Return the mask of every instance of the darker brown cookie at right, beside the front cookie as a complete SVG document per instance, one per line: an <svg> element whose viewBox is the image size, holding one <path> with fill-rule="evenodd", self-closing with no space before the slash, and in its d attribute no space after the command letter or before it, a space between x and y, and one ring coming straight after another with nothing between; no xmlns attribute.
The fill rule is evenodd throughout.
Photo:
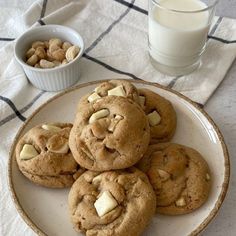
<svg viewBox="0 0 236 236"><path fill-rule="evenodd" d="M173 143L150 145L137 167L149 177L159 213L186 214L208 198L210 170L201 154L192 148Z"/></svg>

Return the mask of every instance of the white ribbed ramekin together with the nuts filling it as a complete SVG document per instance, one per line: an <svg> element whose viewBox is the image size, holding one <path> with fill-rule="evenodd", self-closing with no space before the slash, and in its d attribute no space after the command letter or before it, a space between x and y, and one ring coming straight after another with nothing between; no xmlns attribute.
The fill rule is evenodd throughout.
<svg viewBox="0 0 236 236"><path fill-rule="evenodd" d="M59 91L75 84L84 51L82 37L61 25L28 30L15 44L15 57L29 81L45 91Z"/></svg>

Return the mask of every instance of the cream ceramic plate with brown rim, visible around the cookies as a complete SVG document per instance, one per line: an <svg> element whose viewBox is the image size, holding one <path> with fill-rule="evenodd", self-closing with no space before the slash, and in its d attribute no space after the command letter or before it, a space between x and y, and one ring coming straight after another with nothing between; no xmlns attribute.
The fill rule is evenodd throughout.
<svg viewBox="0 0 236 236"><path fill-rule="evenodd" d="M101 81L72 88L49 100L25 122L12 145L9 184L13 201L26 223L39 235L78 236L68 215L69 189L39 187L26 179L16 164L15 145L20 136L39 123L73 122L79 98L92 91L99 83ZM172 102L178 118L176 134L172 141L197 149L209 164L213 182L210 196L200 209L183 216L155 215L143 235L196 235L216 215L227 191L229 158L223 137L211 118L194 102L159 85L135 81L133 83L138 88L151 89Z"/></svg>

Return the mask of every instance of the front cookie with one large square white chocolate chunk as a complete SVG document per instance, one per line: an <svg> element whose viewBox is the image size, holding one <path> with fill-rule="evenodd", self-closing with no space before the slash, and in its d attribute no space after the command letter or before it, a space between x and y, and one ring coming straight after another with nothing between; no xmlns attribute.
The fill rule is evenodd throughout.
<svg viewBox="0 0 236 236"><path fill-rule="evenodd" d="M156 197L147 176L132 167L86 171L69 193L74 228L86 235L137 236L155 213Z"/></svg>

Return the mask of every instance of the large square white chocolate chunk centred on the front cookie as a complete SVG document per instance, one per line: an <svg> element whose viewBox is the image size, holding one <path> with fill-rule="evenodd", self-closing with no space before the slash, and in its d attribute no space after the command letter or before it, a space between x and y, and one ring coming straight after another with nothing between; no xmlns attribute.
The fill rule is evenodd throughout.
<svg viewBox="0 0 236 236"><path fill-rule="evenodd" d="M94 203L94 207L100 217L112 211L117 205L117 201L109 191L104 191Z"/></svg>

